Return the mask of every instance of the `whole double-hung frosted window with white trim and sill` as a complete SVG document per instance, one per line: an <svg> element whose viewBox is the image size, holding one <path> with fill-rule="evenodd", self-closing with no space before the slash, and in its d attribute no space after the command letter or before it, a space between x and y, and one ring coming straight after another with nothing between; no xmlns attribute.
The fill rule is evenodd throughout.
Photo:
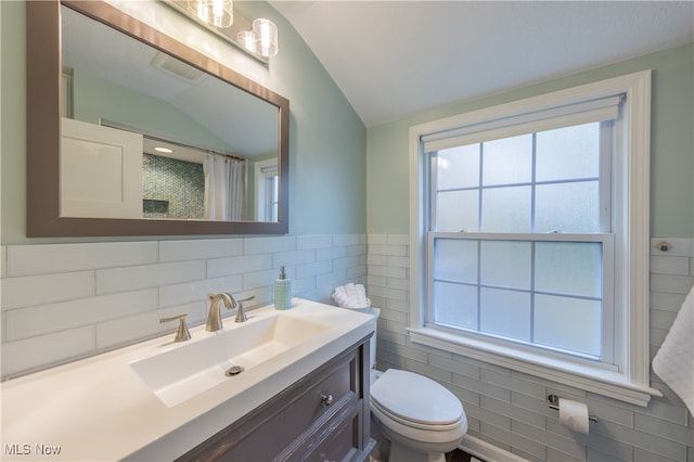
<svg viewBox="0 0 694 462"><path fill-rule="evenodd" d="M411 128L413 342L645 406L650 73Z"/></svg>

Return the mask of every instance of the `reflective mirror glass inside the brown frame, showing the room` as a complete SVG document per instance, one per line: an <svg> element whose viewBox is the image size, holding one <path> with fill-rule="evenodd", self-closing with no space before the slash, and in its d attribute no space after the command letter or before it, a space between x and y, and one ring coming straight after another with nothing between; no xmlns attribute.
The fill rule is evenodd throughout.
<svg viewBox="0 0 694 462"><path fill-rule="evenodd" d="M61 216L278 221L277 106L61 10Z"/></svg>

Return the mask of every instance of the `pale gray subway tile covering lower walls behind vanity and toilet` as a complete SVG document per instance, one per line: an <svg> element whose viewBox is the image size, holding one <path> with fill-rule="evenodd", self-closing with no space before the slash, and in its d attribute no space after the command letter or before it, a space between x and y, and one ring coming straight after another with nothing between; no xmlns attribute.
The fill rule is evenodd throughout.
<svg viewBox="0 0 694 462"><path fill-rule="evenodd" d="M668 252L657 244L666 241ZM694 240L654 239L651 258L652 356L694 282ZM334 286L368 283L382 308L380 369L430 376L464 403L470 435L527 460L694 462L694 418L657 376L664 398L647 408L471 360L407 339L409 236L338 234L191 241L0 246L4 378L160 335L158 319L189 313L204 322L209 292L272 301L284 265L294 294L332 303ZM368 277L367 277L368 274ZM545 396L586 400L599 422L590 436L558 424Z"/></svg>

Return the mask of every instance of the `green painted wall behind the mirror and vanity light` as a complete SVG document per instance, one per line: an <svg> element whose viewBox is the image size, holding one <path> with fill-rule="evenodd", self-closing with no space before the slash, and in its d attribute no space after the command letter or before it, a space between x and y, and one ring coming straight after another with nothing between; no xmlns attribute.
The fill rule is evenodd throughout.
<svg viewBox="0 0 694 462"><path fill-rule="evenodd" d="M130 4L139 9L166 9L149 2ZM275 22L280 30L280 53L264 66L211 36L209 46L229 57L230 67L290 100L290 233L364 233L367 130L363 124L284 17L265 2L240 2L239 8L242 7L247 17L264 16ZM26 238L25 8L23 1L0 1L0 242L114 241Z"/></svg>

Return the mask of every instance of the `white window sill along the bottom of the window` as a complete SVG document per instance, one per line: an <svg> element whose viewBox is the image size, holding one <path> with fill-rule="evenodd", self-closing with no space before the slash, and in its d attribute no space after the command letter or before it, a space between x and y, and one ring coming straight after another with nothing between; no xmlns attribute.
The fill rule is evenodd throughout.
<svg viewBox="0 0 694 462"><path fill-rule="evenodd" d="M451 351L641 407L648 406L652 396L663 396L658 389L632 383L620 372L589 368L505 346L489 345L434 328L408 329L408 335L415 344Z"/></svg>

